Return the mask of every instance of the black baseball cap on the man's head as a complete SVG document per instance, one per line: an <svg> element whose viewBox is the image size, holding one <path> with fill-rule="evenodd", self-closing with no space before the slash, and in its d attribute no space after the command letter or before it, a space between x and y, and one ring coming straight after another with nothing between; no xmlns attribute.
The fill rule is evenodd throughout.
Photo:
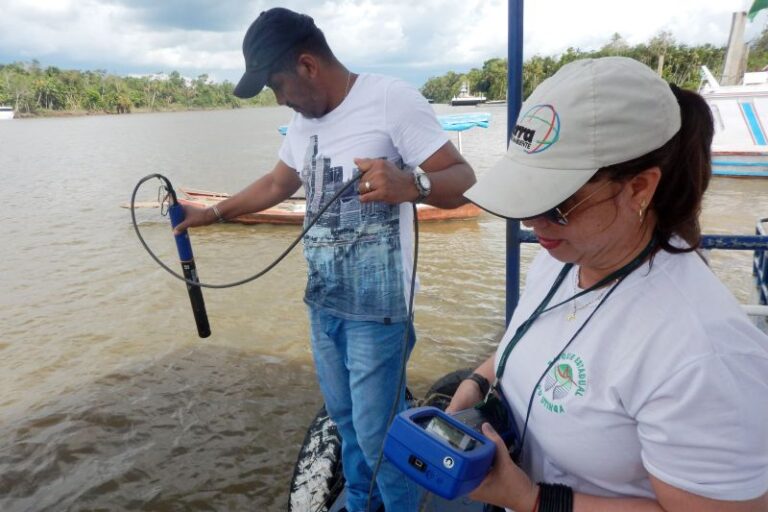
<svg viewBox="0 0 768 512"><path fill-rule="evenodd" d="M252 98L267 83L272 66L294 44L317 31L306 14L275 7L263 11L243 38L245 74L235 86L235 96Z"/></svg>

